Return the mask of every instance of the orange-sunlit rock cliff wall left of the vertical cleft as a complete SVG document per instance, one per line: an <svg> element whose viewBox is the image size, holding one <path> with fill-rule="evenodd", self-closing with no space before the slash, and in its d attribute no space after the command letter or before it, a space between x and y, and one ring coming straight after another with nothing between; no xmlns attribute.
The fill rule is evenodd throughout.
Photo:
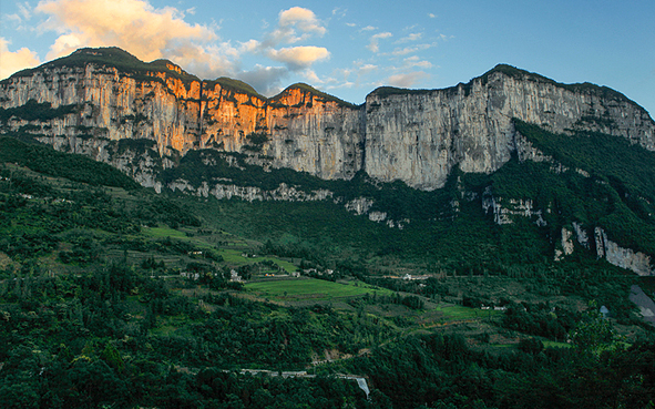
<svg viewBox="0 0 655 409"><path fill-rule="evenodd" d="M161 155L194 149L243 152L262 156L267 165L328 180L350 178L361 167L360 109L299 88L268 101L216 82L184 83L161 72L133 78L89 64L44 69L0 84L0 106L29 100L53 109L79 105L75 114L39 124L38 133L51 136L48 142L60 150L79 152L75 137L91 132L111 141L153 140ZM8 127L27 124L14 120Z"/></svg>

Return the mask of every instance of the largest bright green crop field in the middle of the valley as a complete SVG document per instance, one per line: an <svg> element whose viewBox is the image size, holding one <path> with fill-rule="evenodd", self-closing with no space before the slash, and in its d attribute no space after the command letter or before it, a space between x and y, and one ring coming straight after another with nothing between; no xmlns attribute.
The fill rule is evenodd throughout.
<svg viewBox="0 0 655 409"><path fill-rule="evenodd" d="M339 297L357 297L365 294L392 295L391 290L364 283L332 283L317 278L285 279L246 284L248 292L278 300L328 300Z"/></svg>

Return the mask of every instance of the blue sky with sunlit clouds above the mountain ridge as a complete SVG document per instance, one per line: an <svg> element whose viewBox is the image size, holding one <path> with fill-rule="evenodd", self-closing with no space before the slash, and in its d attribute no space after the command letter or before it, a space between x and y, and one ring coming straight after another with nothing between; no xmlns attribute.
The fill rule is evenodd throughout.
<svg viewBox="0 0 655 409"><path fill-rule="evenodd" d="M2 0L0 76L80 47L167 58L265 95L295 82L354 103L498 63L589 81L655 113L655 1Z"/></svg>

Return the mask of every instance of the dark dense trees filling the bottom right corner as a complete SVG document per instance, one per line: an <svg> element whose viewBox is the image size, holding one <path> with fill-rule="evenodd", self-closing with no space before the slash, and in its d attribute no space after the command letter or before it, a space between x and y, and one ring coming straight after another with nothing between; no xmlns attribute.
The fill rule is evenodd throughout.
<svg viewBox="0 0 655 409"><path fill-rule="evenodd" d="M524 345L489 355L458 336L410 337L351 365L402 408L646 408L653 400L653 342L600 355Z"/></svg>

